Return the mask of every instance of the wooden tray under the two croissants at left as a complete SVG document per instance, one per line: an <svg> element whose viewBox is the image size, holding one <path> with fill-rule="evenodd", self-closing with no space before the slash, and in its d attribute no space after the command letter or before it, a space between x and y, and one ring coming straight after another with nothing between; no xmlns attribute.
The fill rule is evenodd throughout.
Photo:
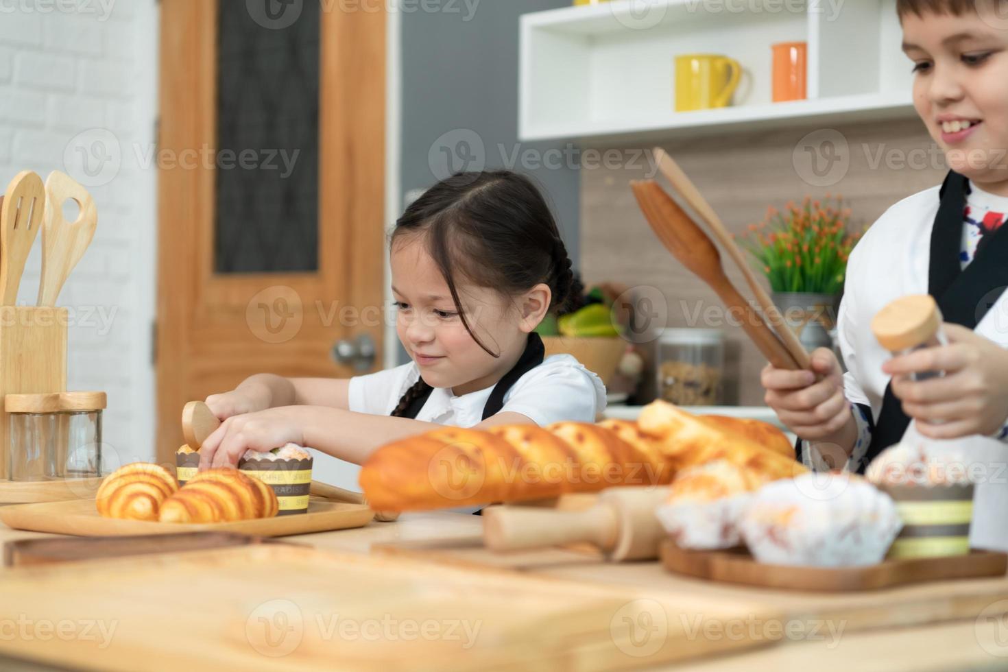
<svg viewBox="0 0 1008 672"><path fill-rule="evenodd" d="M259 537L282 537L291 534L326 532L363 527L374 518L364 504L346 504L312 499L305 514L257 518L234 523L181 525L103 518L94 500L46 502L0 507L0 521L15 530L73 534L81 537L139 534L178 534L180 532L238 532Z"/></svg>

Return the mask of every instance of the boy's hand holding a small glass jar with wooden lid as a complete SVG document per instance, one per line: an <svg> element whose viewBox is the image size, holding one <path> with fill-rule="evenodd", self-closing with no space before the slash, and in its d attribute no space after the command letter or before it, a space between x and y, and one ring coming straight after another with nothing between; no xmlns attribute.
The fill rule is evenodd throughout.
<svg viewBox="0 0 1008 672"><path fill-rule="evenodd" d="M948 346L925 348L882 365L903 412L929 438L990 435L1008 418L1008 351L961 324L942 325ZM909 374L944 371L941 378Z"/></svg>

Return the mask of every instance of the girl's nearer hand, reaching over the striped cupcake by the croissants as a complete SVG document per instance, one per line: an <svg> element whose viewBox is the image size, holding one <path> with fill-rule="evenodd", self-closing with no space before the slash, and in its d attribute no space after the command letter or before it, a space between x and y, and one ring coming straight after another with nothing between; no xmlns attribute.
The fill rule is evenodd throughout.
<svg viewBox="0 0 1008 672"><path fill-rule="evenodd" d="M282 406L229 417L203 442L200 471L237 466L249 449L265 452L287 443L303 445L297 410L296 406Z"/></svg>

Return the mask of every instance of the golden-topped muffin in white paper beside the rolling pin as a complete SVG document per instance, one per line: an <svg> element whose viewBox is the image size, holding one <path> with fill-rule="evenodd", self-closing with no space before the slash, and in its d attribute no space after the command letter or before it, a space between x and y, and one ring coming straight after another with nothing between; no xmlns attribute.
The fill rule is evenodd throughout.
<svg viewBox="0 0 1008 672"><path fill-rule="evenodd" d="M668 500L655 515L679 548L738 546L738 521L763 483L752 469L725 459L690 466L675 476Z"/></svg>

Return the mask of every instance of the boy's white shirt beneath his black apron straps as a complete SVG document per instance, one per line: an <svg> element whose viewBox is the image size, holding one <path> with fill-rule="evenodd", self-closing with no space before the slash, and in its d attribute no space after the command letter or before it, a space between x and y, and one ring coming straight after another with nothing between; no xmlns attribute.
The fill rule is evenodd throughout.
<svg viewBox="0 0 1008 672"><path fill-rule="evenodd" d="M973 184L971 188L977 189ZM876 421L889 383L882 364L892 355L876 341L871 320L896 298L927 293L938 189L934 186L915 193L886 211L854 248L848 263L838 315L838 341L848 369L844 392L848 401L870 406ZM991 306L975 331L1008 348L1008 292ZM912 426L911 422L908 431L913 431ZM985 483L977 485L974 496L971 544L977 548L1008 550L1008 469L1004 468L1008 445L980 435L948 443L983 465L986 477ZM848 466L858 458L859 455L852 455Z"/></svg>

